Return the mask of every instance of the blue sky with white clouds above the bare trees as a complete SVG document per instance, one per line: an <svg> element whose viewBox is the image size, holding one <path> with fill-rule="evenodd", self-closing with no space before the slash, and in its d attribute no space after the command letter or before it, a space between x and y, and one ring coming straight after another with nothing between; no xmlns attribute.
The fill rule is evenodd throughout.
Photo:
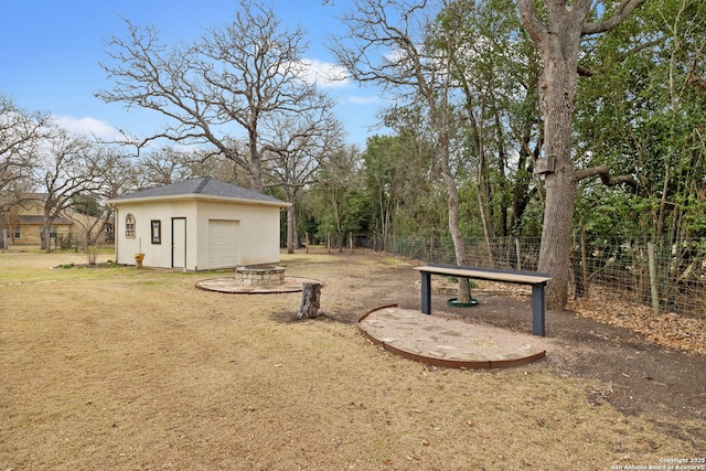
<svg viewBox="0 0 706 471"><path fill-rule="evenodd" d="M347 0L322 4L321 0L271 0L286 28L307 32L306 58L333 66L324 38L340 30L333 14ZM117 129L133 136L159 131L160 114L127 110L124 104L96 98L111 83L100 62L107 62L106 42L126 38L121 18L139 26L152 25L165 44L190 43L205 29L224 25L239 8L237 0L2 0L0 28L0 93L26 111L46 111L69 130L117 137ZM361 88L352 81L322 86L339 104L347 142L364 148L367 137L384 133L375 126L384 99L378 90Z"/></svg>

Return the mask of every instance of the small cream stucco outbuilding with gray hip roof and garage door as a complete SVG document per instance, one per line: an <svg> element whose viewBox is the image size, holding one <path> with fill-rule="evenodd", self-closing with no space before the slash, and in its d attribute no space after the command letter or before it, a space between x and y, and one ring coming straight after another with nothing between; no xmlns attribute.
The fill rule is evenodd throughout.
<svg viewBox="0 0 706 471"><path fill-rule="evenodd" d="M279 263L281 208L271 196L205 176L108 201L116 261L213 270Z"/></svg>

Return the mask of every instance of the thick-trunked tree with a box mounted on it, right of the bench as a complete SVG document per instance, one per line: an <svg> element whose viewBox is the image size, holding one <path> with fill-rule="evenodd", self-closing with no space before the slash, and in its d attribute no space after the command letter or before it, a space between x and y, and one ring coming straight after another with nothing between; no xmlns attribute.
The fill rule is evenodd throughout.
<svg viewBox="0 0 706 471"><path fill-rule="evenodd" d="M628 175L610 178L606 165L577 170L571 159L571 121L581 40L616 28L643 1L621 0L610 11L610 4L601 0L543 0L546 11L539 14L534 0L517 0L522 21L534 39L544 66L539 89L546 201L538 269L553 278L546 298L550 309L563 309L567 301L578 182L601 176L606 184L634 183ZM591 17L592 12L595 17ZM589 21L601 17L602 21Z"/></svg>

